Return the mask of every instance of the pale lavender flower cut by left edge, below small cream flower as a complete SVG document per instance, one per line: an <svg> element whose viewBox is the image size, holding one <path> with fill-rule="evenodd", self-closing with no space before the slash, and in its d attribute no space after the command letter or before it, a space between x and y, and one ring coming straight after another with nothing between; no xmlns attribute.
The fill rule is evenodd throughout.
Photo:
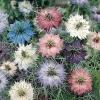
<svg viewBox="0 0 100 100"><path fill-rule="evenodd" d="M3 72L0 71L0 92L2 92L6 85L8 84L8 80Z"/></svg>

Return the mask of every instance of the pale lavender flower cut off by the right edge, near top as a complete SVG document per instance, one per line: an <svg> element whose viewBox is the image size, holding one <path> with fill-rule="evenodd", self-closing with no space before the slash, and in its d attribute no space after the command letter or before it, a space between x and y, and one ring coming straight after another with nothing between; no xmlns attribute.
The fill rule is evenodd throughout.
<svg viewBox="0 0 100 100"><path fill-rule="evenodd" d="M91 11L91 17L93 20L100 23L100 8L93 7Z"/></svg>

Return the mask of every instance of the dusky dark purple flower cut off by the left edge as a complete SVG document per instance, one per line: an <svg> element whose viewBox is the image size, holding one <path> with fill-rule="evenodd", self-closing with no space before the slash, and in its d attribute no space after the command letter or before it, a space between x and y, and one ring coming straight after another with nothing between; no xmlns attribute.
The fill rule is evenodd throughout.
<svg viewBox="0 0 100 100"><path fill-rule="evenodd" d="M9 44L0 42L0 61L9 59L10 53L13 52Z"/></svg>

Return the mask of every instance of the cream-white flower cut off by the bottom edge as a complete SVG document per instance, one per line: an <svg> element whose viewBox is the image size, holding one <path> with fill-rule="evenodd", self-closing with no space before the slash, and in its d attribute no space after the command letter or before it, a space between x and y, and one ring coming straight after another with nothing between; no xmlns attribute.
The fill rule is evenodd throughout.
<svg viewBox="0 0 100 100"><path fill-rule="evenodd" d="M11 100L34 100L33 88L25 81L16 82L9 90Z"/></svg>

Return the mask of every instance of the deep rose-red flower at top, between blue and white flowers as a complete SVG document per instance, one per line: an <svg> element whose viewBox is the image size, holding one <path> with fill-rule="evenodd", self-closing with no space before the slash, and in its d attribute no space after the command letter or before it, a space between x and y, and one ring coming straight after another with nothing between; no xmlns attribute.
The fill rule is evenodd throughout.
<svg viewBox="0 0 100 100"><path fill-rule="evenodd" d="M41 29L48 31L53 27L57 28L61 23L61 18L56 8L47 8L37 14L36 22Z"/></svg>

